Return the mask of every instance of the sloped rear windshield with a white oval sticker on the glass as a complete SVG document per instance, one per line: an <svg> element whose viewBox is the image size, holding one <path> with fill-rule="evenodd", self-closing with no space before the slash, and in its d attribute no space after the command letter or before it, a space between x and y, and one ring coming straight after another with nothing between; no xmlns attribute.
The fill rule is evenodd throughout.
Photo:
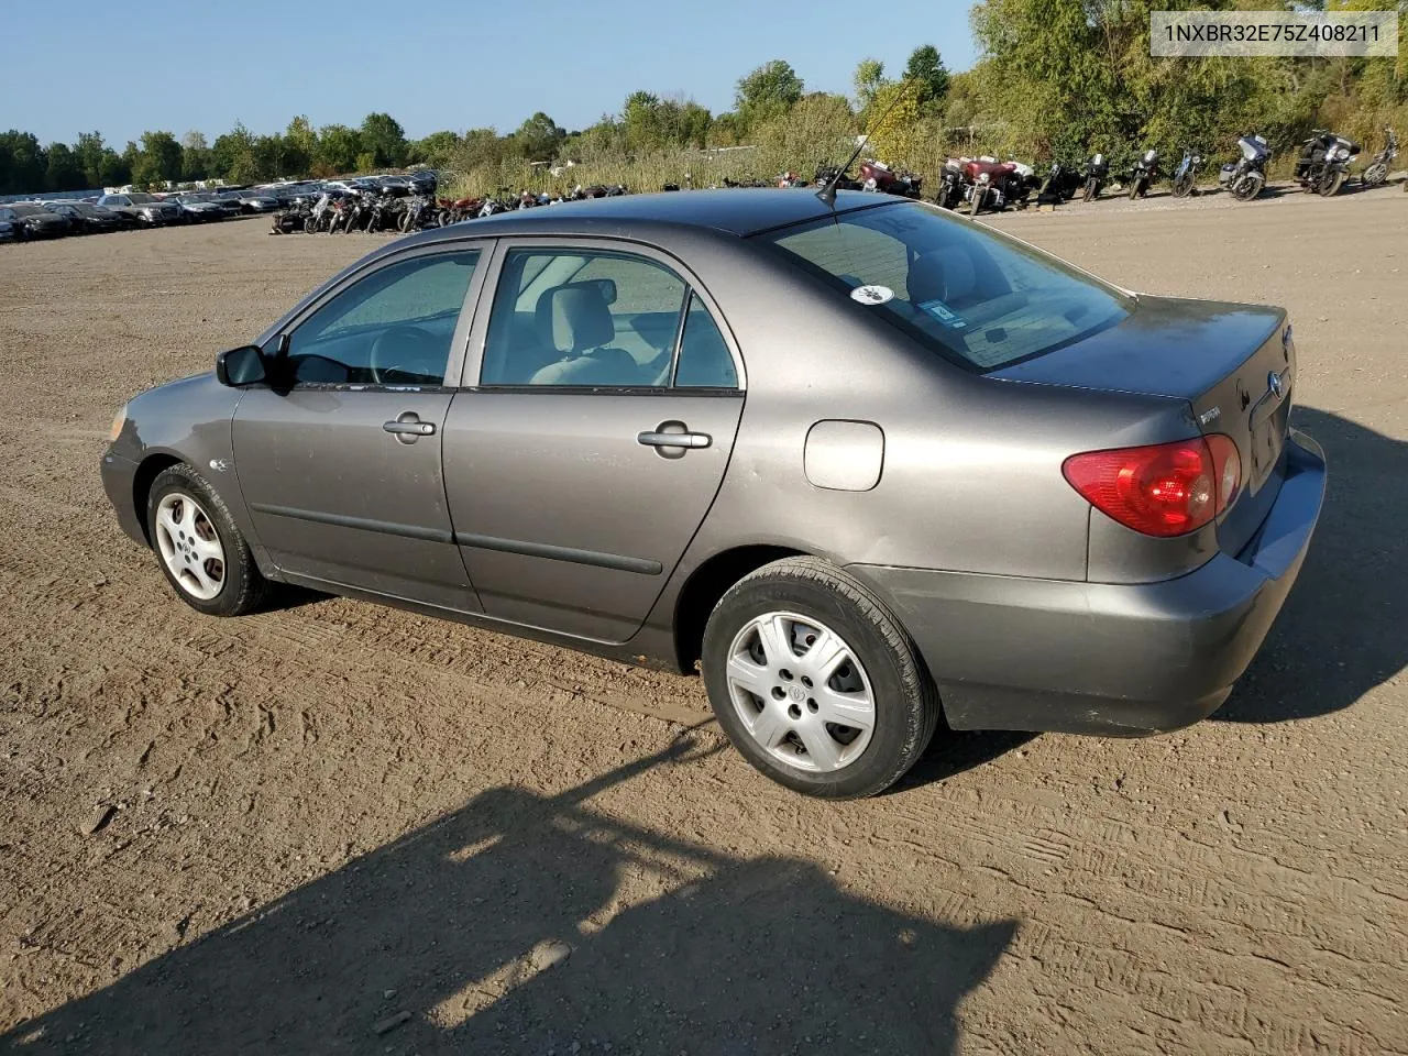
<svg viewBox="0 0 1408 1056"><path fill-rule="evenodd" d="M935 206L900 201L756 238L970 370L1112 327L1129 298L1076 268Z"/></svg>

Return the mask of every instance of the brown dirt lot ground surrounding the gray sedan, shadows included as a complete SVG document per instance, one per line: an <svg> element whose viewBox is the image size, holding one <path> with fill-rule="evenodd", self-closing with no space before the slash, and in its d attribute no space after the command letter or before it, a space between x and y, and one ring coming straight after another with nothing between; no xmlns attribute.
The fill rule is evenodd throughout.
<svg viewBox="0 0 1408 1056"><path fill-rule="evenodd" d="M693 679L172 597L113 413L372 238L0 246L0 1052L1408 1052L1408 194L993 222L1290 306L1331 494L1211 721L948 735L852 804L755 774Z"/></svg>

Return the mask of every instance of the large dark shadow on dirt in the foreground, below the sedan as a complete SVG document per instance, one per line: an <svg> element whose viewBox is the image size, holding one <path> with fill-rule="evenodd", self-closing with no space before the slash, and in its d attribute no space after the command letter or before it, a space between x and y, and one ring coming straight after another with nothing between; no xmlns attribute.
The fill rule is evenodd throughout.
<svg viewBox="0 0 1408 1056"><path fill-rule="evenodd" d="M908 917L811 862L738 860L583 807L689 758L677 743L552 798L489 790L0 1052L956 1050L956 1007L1017 922ZM624 876L660 894L624 907ZM551 939L573 949L541 970L529 952Z"/></svg>

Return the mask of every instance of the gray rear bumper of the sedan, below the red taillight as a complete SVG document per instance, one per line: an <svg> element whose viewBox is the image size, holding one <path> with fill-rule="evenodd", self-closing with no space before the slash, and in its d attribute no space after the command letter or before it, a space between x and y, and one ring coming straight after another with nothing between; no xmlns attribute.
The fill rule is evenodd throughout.
<svg viewBox="0 0 1408 1056"><path fill-rule="evenodd" d="M1325 498L1302 434L1236 558L1163 583L1105 584L853 565L887 598L957 729L1139 736L1221 707L1281 610Z"/></svg>

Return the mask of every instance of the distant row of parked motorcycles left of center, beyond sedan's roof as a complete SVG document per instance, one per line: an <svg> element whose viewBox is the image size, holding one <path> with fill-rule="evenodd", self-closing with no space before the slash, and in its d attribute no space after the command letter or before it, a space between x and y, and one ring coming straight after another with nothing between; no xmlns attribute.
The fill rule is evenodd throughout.
<svg viewBox="0 0 1408 1056"><path fill-rule="evenodd" d="M466 199L438 199L434 193L396 194L356 189L325 189L315 199L296 201L290 208L275 214L275 235L293 234L348 234L352 231L425 231L448 227L465 220L493 217L539 206L553 206L559 201L583 201L586 199L608 199L628 194L622 184L577 186L566 194L535 194L524 190L518 194L500 187L497 194Z"/></svg>

